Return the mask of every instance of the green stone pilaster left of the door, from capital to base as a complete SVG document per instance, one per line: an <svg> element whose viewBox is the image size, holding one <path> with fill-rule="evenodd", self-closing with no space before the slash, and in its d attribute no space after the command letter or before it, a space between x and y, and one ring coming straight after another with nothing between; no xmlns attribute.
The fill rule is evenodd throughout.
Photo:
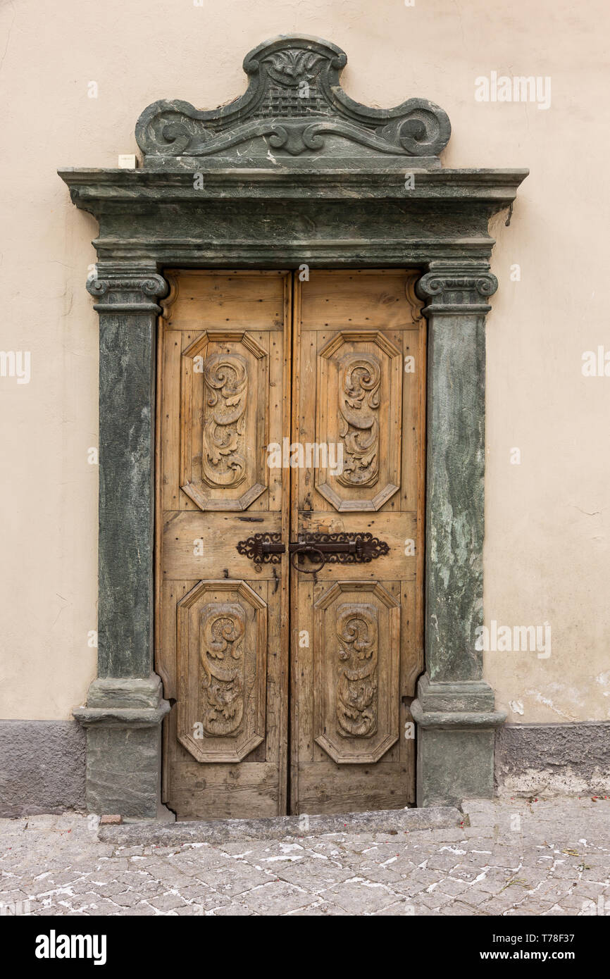
<svg viewBox="0 0 610 979"><path fill-rule="evenodd" d="M97 268L100 314L98 678L74 717L87 730L90 812L155 818L161 722L153 671L155 361L164 279L133 265Z"/></svg>

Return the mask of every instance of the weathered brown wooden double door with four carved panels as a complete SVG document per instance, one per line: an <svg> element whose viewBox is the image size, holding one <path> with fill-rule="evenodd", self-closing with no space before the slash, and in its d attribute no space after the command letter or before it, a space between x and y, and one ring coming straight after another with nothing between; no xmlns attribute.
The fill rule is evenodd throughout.
<svg viewBox="0 0 610 979"><path fill-rule="evenodd" d="M423 669L416 273L166 275L164 801L180 819L407 806Z"/></svg>

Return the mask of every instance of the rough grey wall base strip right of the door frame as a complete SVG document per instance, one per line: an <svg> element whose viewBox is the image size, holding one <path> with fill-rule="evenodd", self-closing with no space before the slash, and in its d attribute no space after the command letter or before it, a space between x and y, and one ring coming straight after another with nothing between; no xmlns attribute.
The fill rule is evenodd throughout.
<svg viewBox="0 0 610 979"><path fill-rule="evenodd" d="M495 783L500 795L610 794L610 722L507 724Z"/></svg>

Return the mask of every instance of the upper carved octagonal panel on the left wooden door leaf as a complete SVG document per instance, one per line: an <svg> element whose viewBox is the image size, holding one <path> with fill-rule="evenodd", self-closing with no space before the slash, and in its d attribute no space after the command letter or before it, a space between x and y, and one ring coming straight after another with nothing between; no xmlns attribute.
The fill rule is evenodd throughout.
<svg viewBox="0 0 610 979"><path fill-rule="evenodd" d="M268 356L204 331L182 353L180 486L202 510L245 510L267 487Z"/></svg>

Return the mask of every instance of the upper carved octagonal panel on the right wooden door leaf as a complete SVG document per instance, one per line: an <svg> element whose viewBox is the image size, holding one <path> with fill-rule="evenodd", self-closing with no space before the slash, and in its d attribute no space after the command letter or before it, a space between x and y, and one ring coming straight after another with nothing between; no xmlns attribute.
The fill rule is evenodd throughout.
<svg viewBox="0 0 610 979"><path fill-rule="evenodd" d="M342 330L319 352L315 441L336 464L320 465L315 488L339 511L378 510L399 490L401 375L378 331Z"/></svg>

